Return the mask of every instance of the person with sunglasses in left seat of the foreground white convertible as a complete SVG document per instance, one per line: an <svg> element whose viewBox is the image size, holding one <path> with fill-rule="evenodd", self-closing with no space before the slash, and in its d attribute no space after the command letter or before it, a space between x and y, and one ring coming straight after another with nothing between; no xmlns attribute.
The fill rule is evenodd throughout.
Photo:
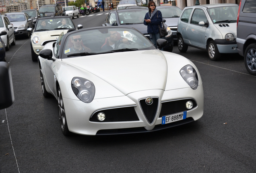
<svg viewBox="0 0 256 173"><path fill-rule="evenodd" d="M65 54L74 54L74 53L81 53L81 52L91 52L90 48L87 48L82 44L81 35L73 35L71 36L71 42L73 46L68 50L65 50Z"/></svg>

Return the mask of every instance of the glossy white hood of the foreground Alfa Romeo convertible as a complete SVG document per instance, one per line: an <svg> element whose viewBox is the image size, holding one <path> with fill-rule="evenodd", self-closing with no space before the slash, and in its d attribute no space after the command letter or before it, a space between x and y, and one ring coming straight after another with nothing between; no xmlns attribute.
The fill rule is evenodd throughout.
<svg viewBox="0 0 256 173"><path fill-rule="evenodd" d="M159 50L65 58L62 62L94 74L124 95L151 89L165 90L167 61Z"/></svg>

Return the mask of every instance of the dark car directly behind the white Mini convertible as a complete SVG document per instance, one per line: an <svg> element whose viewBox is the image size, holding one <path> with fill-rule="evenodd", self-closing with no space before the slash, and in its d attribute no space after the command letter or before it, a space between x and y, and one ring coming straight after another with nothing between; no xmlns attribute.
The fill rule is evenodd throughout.
<svg viewBox="0 0 256 173"><path fill-rule="evenodd" d="M60 6L59 4L43 5L38 11L44 12L45 17L63 16L62 6Z"/></svg>

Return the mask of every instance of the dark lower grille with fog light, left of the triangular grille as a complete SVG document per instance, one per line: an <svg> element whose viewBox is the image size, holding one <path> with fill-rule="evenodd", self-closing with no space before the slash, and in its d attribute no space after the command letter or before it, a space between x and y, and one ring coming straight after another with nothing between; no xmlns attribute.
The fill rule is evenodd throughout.
<svg viewBox="0 0 256 173"><path fill-rule="evenodd" d="M104 113L106 115L106 119L104 121L99 121L97 119L97 115L99 113ZM122 107L97 111L93 113L90 121L105 123L117 121L139 121L139 119L134 110L134 107Z"/></svg>

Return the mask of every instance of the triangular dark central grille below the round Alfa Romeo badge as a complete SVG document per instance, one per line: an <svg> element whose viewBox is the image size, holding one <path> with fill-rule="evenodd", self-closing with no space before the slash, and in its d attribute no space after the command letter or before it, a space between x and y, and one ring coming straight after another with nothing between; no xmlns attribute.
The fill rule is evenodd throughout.
<svg viewBox="0 0 256 173"><path fill-rule="evenodd" d="M150 124L153 123L158 108L158 98L152 99L153 103L151 105L147 105L146 99L140 100L140 106L142 108L142 111Z"/></svg>

